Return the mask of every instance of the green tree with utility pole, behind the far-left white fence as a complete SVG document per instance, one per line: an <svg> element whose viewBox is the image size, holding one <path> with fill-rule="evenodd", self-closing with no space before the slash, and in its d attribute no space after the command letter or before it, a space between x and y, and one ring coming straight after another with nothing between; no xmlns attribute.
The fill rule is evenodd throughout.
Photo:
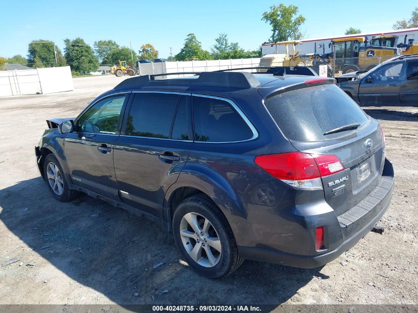
<svg viewBox="0 0 418 313"><path fill-rule="evenodd" d="M54 47L56 51L57 63L55 62ZM37 57L38 62L35 62L35 57ZM42 39L34 40L29 44L28 63L43 63L44 67L66 65L65 58L62 56L61 50L54 45L53 42Z"/></svg>

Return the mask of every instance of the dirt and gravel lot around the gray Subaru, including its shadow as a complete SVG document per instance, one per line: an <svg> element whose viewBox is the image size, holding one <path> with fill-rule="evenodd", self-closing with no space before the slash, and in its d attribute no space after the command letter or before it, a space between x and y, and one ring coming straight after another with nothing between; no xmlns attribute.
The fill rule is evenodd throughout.
<svg viewBox="0 0 418 313"><path fill-rule="evenodd" d="M246 261L210 280L156 224L86 195L59 203L38 173L45 120L77 115L120 80L77 78L75 91L0 99L0 263L19 259L0 267L0 304L418 304L418 108L365 108L396 171L383 235L322 268Z"/></svg>

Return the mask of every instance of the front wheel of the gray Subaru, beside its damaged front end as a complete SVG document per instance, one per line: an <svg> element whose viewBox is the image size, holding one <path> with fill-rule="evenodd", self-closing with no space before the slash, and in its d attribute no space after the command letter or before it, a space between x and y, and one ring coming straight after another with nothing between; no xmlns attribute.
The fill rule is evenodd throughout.
<svg viewBox="0 0 418 313"><path fill-rule="evenodd" d="M44 160L44 177L49 191L58 201L68 202L79 195L77 190L68 187L61 165L52 153Z"/></svg>

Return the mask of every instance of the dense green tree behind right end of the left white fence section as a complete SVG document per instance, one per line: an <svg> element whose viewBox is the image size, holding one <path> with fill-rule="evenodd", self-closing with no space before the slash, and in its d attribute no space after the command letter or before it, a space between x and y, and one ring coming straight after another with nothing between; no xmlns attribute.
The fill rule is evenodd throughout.
<svg viewBox="0 0 418 313"><path fill-rule="evenodd" d="M83 39L65 39L65 58L71 70L77 73L93 72L98 69L99 62L93 49Z"/></svg>

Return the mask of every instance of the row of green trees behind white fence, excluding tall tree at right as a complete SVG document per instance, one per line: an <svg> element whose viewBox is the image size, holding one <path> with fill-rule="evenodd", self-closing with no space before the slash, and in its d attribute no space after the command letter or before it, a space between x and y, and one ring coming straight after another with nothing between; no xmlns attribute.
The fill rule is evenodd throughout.
<svg viewBox="0 0 418 313"><path fill-rule="evenodd" d="M227 34L219 34L211 51L204 50L196 35L187 35L184 46L174 56L169 56L168 61L187 60L211 60L211 59L236 59L261 56L261 49L244 50L238 43L230 42ZM4 63L24 64L33 68L54 66L71 67L73 75L96 71L99 65L112 66L119 60L127 61L135 66L138 59L153 61L159 57L159 52L151 44L141 45L138 53L127 46L120 46L113 40L99 40L93 47L82 38L73 40L64 39L64 51L58 48L52 41L34 40L28 46L27 57L20 54L11 58L0 58L0 70L4 70Z"/></svg>

